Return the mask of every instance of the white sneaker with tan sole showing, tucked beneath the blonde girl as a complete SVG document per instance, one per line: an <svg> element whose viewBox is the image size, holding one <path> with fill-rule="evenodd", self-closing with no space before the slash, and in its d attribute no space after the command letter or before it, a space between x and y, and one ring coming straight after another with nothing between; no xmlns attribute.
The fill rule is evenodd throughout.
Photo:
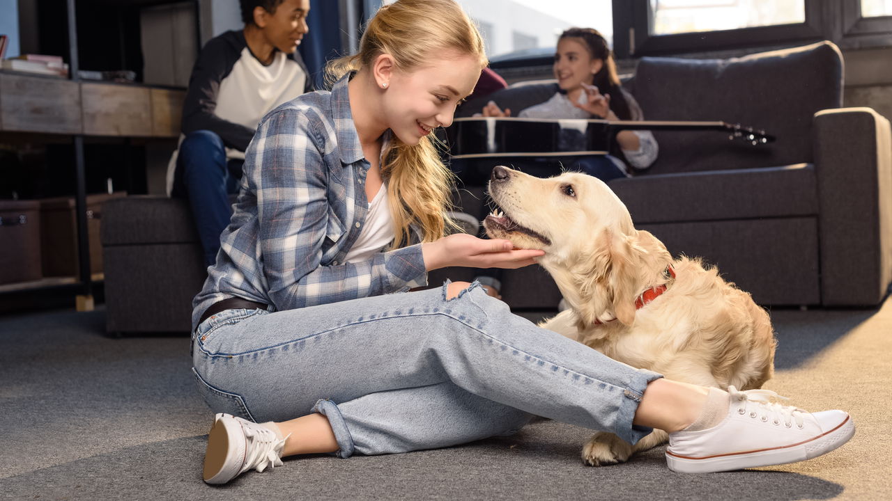
<svg viewBox="0 0 892 501"><path fill-rule="evenodd" d="M281 466L285 439L258 423L218 414L204 453L204 481L222 484L252 468L262 472Z"/></svg>

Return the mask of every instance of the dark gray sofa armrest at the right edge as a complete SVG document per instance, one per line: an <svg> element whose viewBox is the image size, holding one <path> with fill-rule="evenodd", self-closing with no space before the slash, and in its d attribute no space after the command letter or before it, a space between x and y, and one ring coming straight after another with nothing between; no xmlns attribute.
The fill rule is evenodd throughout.
<svg viewBox="0 0 892 501"><path fill-rule="evenodd" d="M824 306L873 306L892 280L892 136L870 108L815 113Z"/></svg>

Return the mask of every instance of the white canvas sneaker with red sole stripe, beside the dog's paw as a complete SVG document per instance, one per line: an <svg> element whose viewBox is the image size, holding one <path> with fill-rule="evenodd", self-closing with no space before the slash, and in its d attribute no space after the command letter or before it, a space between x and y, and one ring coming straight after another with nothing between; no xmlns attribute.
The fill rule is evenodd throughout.
<svg viewBox="0 0 892 501"><path fill-rule="evenodd" d="M821 456L855 435L846 412L814 414L781 406L770 390L738 391L722 423L700 431L669 434L666 463L674 472L727 472ZM783 398L786 399L786 398Z"/></svg>

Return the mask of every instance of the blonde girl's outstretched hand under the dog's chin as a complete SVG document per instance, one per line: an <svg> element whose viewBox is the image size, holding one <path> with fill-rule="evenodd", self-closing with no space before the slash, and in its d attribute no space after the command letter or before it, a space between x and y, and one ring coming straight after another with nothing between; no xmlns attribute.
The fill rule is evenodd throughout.
<svg viewBox="0 0 892 501"><path fill-rule="evenodd" d="M515 249L508 240L485 240L471 234L450 234L423 243L427 271L442 267L519 268L532 265L544 250Z"/></svg>

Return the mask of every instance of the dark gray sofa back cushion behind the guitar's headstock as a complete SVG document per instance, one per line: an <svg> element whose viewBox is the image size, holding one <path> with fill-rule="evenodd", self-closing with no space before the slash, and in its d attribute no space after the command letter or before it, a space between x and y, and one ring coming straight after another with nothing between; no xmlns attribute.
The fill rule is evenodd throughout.
<svg viewBox="0 0 892 501"><path fill-rule="evenodd" d="M813 161L814 113L842 105L842 55L821 42L740 58L641 58L629 85L646 119L722 120L778 138L751 147L717 132L657 131L648 174Z"/></svg>

